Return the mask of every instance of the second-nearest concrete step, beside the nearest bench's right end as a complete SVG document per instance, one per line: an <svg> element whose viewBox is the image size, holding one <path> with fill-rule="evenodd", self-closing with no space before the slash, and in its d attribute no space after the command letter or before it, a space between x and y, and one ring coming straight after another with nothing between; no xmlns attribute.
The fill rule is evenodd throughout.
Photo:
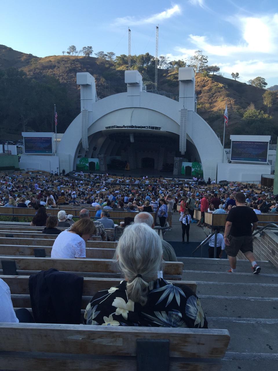
<svg viewBox="0 0 278 371"><path fill-rule="evenodd" d="M264 353L273 355L278 353L278 322L277 323L258 323L235 322L227 318L225 321L215 321L208 319L209 328L227 329L231 340L227 352L239 353ZM257 320L258 321L258 320ZM257 339L257 341L256 341Z"/></svg>

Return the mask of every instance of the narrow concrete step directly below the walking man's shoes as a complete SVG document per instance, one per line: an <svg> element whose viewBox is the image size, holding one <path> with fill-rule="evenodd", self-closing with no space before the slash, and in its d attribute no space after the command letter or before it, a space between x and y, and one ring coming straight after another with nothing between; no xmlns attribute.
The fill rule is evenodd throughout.
<svg viewBox="0 0 278 371"><path fill-rule="evenodd" d="M263 272L263 271L262 271ZM250 273L228 273L228 272L211 272L211 271L195 271L184 270L182 280L187 281L202 281L202 282L232 282L232 283L278 283L277 274L260 273L254 275Z"/></svg>

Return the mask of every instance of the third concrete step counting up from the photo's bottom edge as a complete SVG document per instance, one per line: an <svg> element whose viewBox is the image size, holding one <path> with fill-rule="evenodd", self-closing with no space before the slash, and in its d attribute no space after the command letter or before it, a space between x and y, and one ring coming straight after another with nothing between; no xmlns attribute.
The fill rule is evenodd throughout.
<svg viewBox="0 0 278 371"><path fill-rule="evenodd" d="M277 298L198 295L210 317L278 318Z"/></svg>

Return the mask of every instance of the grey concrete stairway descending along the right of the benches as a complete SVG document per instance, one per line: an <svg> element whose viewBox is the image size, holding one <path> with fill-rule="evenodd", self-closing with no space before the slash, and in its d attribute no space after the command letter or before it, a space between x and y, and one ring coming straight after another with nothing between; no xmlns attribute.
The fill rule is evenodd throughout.
<svg viewBox="0 0 278 371"><path fill-rule="evenodd" d="M197 283L197 292L209 328L228 329L231 341L224 371L278 370L278 269L238 260L237 273L228 273L226 259L178 257L184 263L182 279Z"/></svg>

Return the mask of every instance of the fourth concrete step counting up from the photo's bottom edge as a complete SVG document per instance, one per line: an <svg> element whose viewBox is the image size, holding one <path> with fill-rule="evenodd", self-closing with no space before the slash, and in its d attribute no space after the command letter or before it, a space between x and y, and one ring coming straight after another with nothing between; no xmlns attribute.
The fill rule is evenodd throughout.
<svg viewBox="0 0 278 371"><path fill-rule="evenodd" d="M197 295L278 298L278 284L197 281Z"/></svg>

